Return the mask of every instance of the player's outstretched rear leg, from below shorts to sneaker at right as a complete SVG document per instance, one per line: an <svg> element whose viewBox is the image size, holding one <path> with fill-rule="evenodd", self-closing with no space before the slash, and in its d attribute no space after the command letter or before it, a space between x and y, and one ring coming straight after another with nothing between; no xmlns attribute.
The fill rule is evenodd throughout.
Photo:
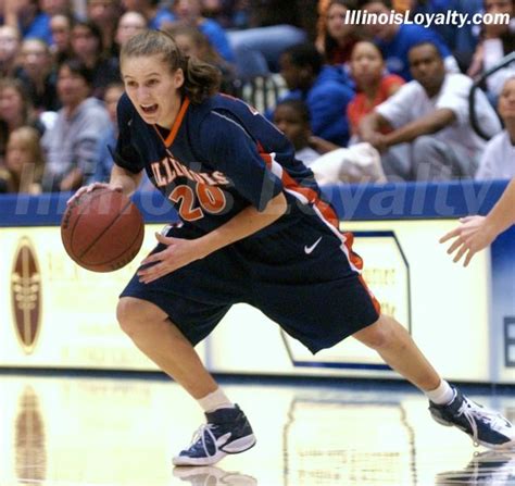
<svg viewBox="0 0 515 486"><path fill-rule="evenodd" d="M438 423L456 426L475 445L499 450L515 448L515 427L499 412L475 403L456 387L449 387L394 319L380 315L353 337L375 349L387 364L426 394L431 416Z"/></svg>

